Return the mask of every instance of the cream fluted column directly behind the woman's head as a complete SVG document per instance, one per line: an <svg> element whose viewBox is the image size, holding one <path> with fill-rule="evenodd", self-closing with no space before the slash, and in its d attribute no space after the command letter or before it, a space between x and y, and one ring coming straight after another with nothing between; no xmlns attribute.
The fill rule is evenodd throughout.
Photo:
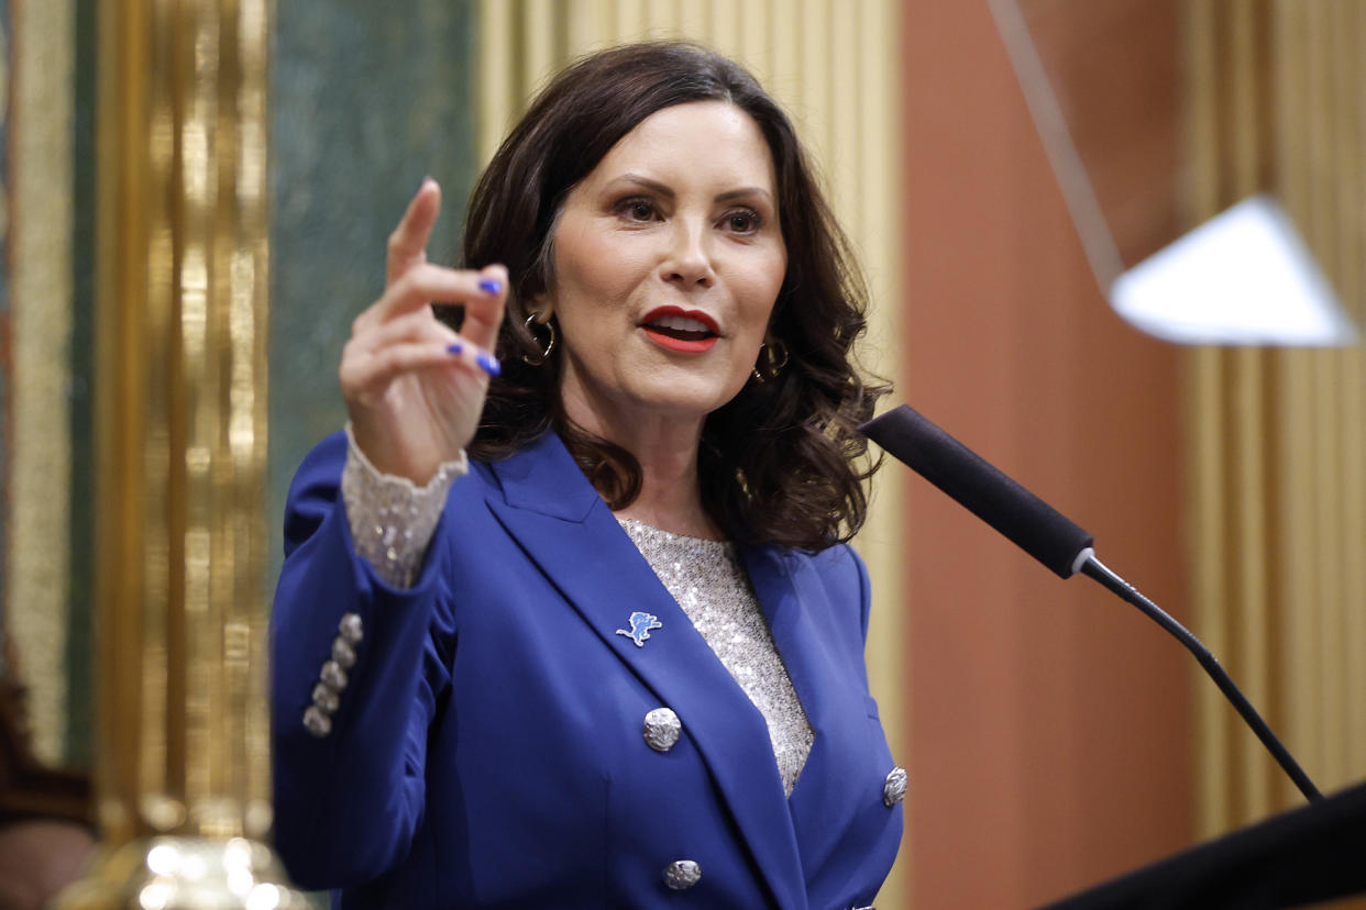
<svg viewBox="0 0 1366 910"><path fill-rule="evenodd" d="M479 160L493 156L535 89L585 52L672 37L716 48L749 67L796 121L867 273L874 303L863 362L895 378L902 199L897 10L895 0L482 0ZM867 648L873 694L893 753L907 756L900 473L878 475L870 520L856 546L874 592ZM912 799L914 782L907 806ZM908 855L904 845L902 855ZM904 866L904 860L897 864ZM893 870L878 906L904 906L903 877Z"/></svg>

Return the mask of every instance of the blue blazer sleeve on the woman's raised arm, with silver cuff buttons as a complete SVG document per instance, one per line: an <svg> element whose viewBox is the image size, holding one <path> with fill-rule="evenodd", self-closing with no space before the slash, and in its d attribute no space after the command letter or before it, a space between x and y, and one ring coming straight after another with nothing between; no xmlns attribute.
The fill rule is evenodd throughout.
<svg viewBox="0 0 1366 910"><path fill-rule="evenodd" d="M270 621L270 737L276 847L303 887L366 881L407 854L425 804L428 727L449 684L455 634L437 557L418 583L387 585L355 555L340 498L346 438L299 468L285 514L285 561ZM303 724L343 617L361 619L357 660L331 731Z"/></svg>

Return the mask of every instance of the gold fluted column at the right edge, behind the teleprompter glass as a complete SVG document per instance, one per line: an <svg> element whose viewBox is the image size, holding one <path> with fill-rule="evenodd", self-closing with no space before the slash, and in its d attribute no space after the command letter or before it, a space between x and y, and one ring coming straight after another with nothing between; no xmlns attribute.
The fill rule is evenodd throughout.
<svg viewBox="0 0 1366 910"><path fill-rule="evenodd" d="M1193 0L1191 220L1259 191L1366 325L1366 4ZM1190 359L1197 633L1328 791L1366 775L1366 357ZM1199 681L1198 834L1300 798Z"/></svg>

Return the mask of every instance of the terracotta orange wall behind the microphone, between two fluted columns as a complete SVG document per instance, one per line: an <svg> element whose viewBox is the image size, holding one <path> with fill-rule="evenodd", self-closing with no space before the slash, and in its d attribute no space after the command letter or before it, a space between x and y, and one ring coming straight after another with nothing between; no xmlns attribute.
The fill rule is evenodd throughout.
<svg viewBox="0 0 1366 910"><path fill-rule="evenodd" d="M906 0L903 27L900 396L1184 621L1177 352L1105 306L985 0ZM1187 846L1186 651L907 487L917 910L1029 906Z"/></svg>

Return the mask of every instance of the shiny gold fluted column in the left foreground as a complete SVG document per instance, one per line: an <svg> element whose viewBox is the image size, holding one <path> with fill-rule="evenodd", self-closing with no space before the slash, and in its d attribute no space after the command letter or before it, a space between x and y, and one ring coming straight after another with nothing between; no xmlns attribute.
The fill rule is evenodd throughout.
<svg viewBox="0 0 1366 910"><path fill-rule="evenodd" d="M268 0L98 7L101 862L64 907L299 900L269 850Z"/></svg>

